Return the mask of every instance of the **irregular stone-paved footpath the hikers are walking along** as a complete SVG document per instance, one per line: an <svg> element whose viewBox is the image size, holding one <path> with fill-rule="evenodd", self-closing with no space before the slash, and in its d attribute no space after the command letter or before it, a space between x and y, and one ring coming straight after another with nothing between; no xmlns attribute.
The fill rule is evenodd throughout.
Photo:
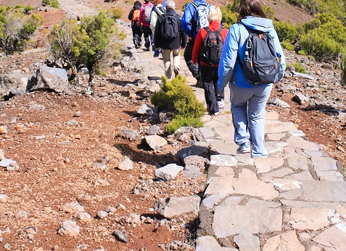
<svg viewBox="0 0 346 251"><path fill-rule="evenodd" d="M129 27L122 29L132 46ZM152 52L131 51L140 57L144 75L163 74L163 62ZM193 90L204 102L203 90ZM229 90L218 116L203 117L201 133L211 156L196 251L345 251L346 182L336 161L275 112L267 112L265 120L269 157L236 154L227 97Z"/></svg>

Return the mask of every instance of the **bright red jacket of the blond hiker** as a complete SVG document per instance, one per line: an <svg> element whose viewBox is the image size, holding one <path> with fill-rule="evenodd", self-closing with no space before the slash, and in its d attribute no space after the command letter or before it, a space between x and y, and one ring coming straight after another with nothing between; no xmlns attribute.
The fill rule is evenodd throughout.
<svg viewBox="0 0 346 251"><path fill-rule="evenodd" d="M208 28L211 31L216 31L220 27L221 27L221 25L219 22L210 22L209 26L208 26ZM224 41L226 39L227 33L228 33L228 29L226 29L226 28L224 28L221 31L221 36L224 39ZM194 43L193 50L192 50L192 62L194 62L194 63L197 63L198 56L199 56L200 51L201 51L202 46L203 46L203 40L206 36L207 36L207 31L202 28L202 29L200 29L200 31L198 32L198 34L195 38L195 43ZM209 65L205 62L202 62L202 61L200 61L200 65L211 66L211 65ZM219 65L213 65L213 66L219 66Z"/></svg>

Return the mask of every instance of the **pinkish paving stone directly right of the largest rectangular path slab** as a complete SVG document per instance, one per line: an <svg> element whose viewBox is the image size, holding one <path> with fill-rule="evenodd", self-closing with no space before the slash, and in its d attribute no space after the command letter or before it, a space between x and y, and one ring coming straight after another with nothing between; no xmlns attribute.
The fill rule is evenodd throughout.
<svg viewBox="0 0 346 251"><path fill-rule="evenodd" d="M319 230L329 226L328 209L292 208L289 222L294 229Z"/></svg>

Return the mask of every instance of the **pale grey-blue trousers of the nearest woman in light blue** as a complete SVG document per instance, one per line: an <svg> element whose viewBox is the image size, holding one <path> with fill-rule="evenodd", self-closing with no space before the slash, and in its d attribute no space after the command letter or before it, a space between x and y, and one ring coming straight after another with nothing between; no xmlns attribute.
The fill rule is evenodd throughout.
<svg viewBox="0 0 346 251"><path fill-rule="evenodd" d="M273 85L258 85L253 88L239 88L230 84L231 112L235 129L234 142L237 145L251 141L252 157L267 157L264 148L264 114Z"/></svg>

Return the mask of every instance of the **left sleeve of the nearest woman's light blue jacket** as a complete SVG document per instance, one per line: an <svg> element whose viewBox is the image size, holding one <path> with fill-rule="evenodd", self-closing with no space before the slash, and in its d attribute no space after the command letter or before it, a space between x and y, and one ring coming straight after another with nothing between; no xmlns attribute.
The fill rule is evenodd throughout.
<svg viewBox="0 0 346 251"><path fill-rule="evenodd" d="M224 48L222 49L222 54L219 62L219 80L217 82L217 88L220 90L225 88L228 82L233 76L234 66L238 55L238 39L236 38L235 30L238 30L239 24L232 25L229 29Z"/></svg>

